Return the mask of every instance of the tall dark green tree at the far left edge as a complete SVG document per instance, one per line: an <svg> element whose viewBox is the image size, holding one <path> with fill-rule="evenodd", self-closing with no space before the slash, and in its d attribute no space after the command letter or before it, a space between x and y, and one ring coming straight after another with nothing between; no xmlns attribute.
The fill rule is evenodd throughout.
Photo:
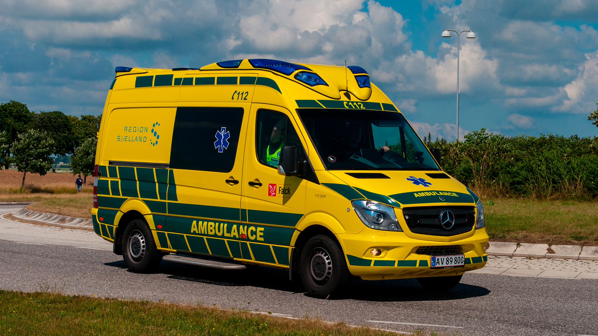
<svg viewBox="0 0 598 336"><path fill-rule="evenodd" d="M27 132L34 115L35 113L29 111L27 105L14 100L0 104L0 132L6 132L7 142L0 152L2 157L10 157L13 142L17 140L17 135ZM8 169L10 163L3 161L2 164Z"/></svg>

